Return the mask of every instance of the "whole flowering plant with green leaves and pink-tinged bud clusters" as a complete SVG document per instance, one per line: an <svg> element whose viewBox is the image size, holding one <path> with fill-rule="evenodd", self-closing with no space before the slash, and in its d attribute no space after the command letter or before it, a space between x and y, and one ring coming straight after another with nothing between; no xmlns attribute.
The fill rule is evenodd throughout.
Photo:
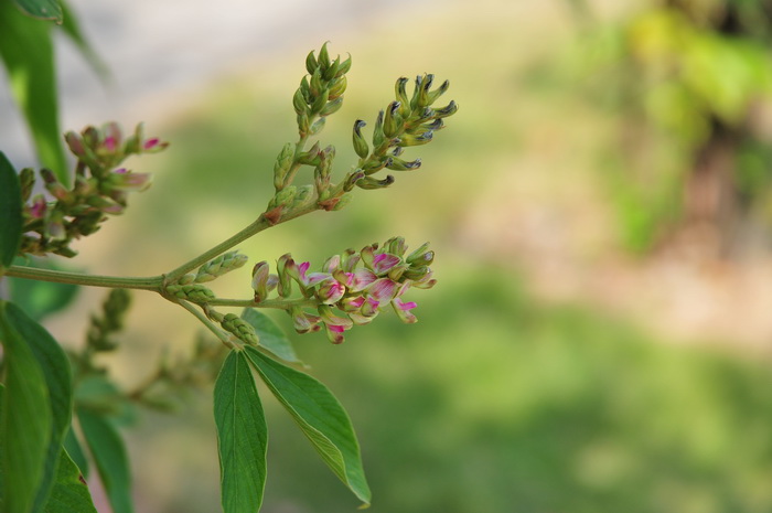
<svg viewBox="0 0 772 513"><path fill-rule="evenodd" d="M433 107L449 83L433 87L432 75L416 78L410 95L407 78L396 83L396 99L375 120L372 138L365 122L353 127L358 160L340 180L333 179L335 148L310 139L340 109L351 57L334 60L326 44L309 53L305 75L292 97L298 140L281 148L274 167L275 194L245 228L179 267L151 277L95 276L32 267L31 257L76 255L73 244L99 229L110 215L124 212L130 192L150 185L151 177L124 167L135 154L154 153L168 143L147 138L140 125L125 137L116 124L67 132L75 156L72 177L46 169L35 191L31 169L17 172L0 152L0 282L12 279L110 288L101 312L92 318L85 346L65 352L24 311L21 301L0 301L2 374L0 402L0 504L3 512L94 512L88 488L88 461L96 463L116 513L131 512L130 473L115 420L133 405L167 408L185 387L214 381L214 418L221 463L222 506L226 513L256 512L266 480L267 427L253 374L256 373L286 407L322 460L362 501L369 504L360 447L351 420L333 394L305 372L290 340L260 312L283 310L298 333L323 331L342 343L354 325L394 310L404 322L416 322L410 289L435 285L428 244L409 252L395 236L356 252L345 249L318 270L286 254L271 268L253 267L246 299L221 298L212 281L243 267L247 257L233 248L264 229L317 211L340 211L356 189L387 188L393 175L383 170L412 171L420 159L403 159L406 149L428 143L455 113L450 101ZM311 168L313 181L296 185ZM378 173L382 173L380 175ZM72 185L68 183L72 181ZM18 259L28 259L20 265ZM271 272L274 270L274 272ZM129 308L130 289L154 291L195 316L221 344L200 341L187 361L162 361L135 389L121 389L94 356L116 349ZM240 313L223 312L242 308Z"/></svg>

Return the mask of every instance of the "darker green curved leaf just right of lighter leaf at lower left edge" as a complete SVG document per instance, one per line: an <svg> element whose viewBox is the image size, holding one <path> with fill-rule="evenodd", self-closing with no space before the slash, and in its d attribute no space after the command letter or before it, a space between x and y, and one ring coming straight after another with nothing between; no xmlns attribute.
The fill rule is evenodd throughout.
<svg viewBox="0 0 772 513"><path fill-rule="evenodd" d="M30 319L22 309L8 303L6 314L9 324L32 350L43 373L50 398L51 430L45 457L43 479L37 489L33 511L40 511L53 485L62 440L69 429L73 410L73 378L69 361L60 344L45 328Z"/></svg>

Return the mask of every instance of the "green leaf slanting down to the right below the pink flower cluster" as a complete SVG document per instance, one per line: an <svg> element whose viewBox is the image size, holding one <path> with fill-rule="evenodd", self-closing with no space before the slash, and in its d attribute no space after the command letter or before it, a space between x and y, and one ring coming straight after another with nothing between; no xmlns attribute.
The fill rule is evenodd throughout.
<svg viewBox="0 0 772 513"><path fill-rule="evenodd" d="M369 504L360 443L341 403L319 381L272 360L255 348L247 357L277 399L292 415L322 460L354 494Z"/></svg>

